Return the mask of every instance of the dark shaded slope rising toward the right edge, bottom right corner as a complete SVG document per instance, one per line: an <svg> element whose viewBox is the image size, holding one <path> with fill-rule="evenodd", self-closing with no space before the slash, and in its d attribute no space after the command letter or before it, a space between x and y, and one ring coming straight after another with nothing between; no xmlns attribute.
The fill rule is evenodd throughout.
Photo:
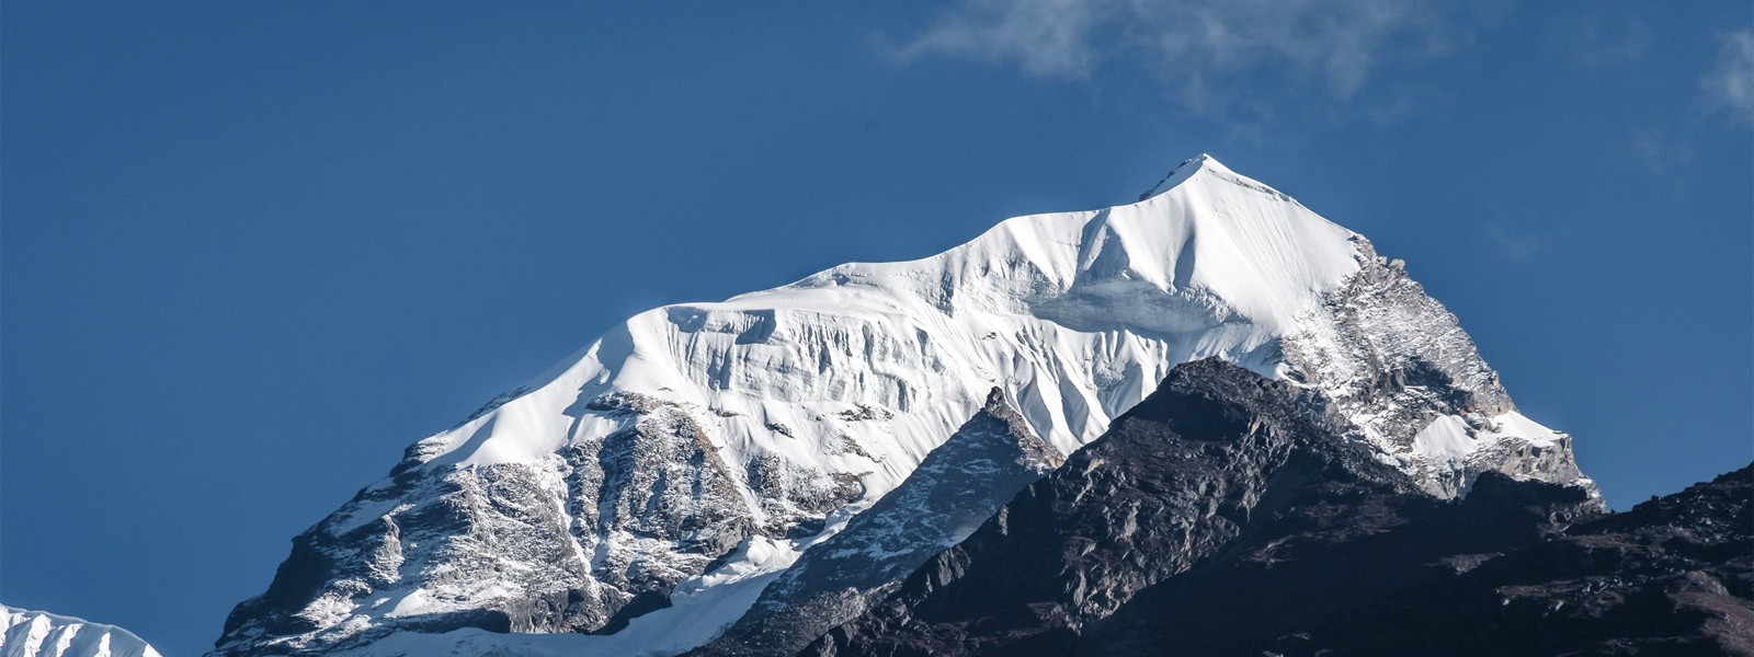
<svg viewBox="0 0 1754 657"><path fill-rule="evenodd" d="M1286 655L1754 655L1754 466L1328 613Z"/></svg>

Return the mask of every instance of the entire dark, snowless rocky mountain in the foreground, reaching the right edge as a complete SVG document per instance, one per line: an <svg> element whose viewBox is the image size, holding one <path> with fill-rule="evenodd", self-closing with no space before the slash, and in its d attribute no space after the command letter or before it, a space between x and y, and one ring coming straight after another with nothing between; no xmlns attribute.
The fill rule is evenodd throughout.
<svg viewBox="0 0 1754 657"><path fill-rule="evenodd" d="M1754 466L1615 515L1501 473L1445 501L1189 363L805 653L1754 655Z"/></svg>

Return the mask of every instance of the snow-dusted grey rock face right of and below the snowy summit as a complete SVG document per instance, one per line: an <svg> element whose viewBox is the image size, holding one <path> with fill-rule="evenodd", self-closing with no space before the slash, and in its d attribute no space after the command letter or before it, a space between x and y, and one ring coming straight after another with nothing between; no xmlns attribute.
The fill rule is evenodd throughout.
<svg viewBox="0 0 1754 657"><path fill-rule="evenodd" d="M1358 273L1282 340L1286 378L1305 387L1307 412L1373 443L1444 498L1487 471L1587 485L1572 436L1528 426L1456 315L1400 261L1354 242Z"/></svg>

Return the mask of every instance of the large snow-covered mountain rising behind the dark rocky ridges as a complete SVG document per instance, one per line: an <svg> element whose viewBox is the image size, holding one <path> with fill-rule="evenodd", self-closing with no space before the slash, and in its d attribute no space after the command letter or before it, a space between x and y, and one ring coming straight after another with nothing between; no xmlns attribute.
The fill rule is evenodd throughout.
<svg viewBox="0 0 1754 657"><path fill-rule="evenodd" d="M216 653L681 653L903 485L995 387L1072 454L1214 356L1286 382L1303 417L1422 494L1484 473L1593 491L1570 438L1517 413L1398 261L1200 156L1137 203L628 319L296 536ZM910 531L959 522L921 510Z"/></svg>

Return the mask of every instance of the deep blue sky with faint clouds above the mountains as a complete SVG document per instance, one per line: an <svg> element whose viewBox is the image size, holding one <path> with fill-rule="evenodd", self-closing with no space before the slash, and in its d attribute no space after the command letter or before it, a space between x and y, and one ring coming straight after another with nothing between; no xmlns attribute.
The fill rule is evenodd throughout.
<svg viewBox="0 0 1754 657"><path fill-rule="evenodd" d="M1210 152L1403 258L1608 503L1754 459L1754 5L0 7L0 601L195 655L649 307Z"/></svg>

